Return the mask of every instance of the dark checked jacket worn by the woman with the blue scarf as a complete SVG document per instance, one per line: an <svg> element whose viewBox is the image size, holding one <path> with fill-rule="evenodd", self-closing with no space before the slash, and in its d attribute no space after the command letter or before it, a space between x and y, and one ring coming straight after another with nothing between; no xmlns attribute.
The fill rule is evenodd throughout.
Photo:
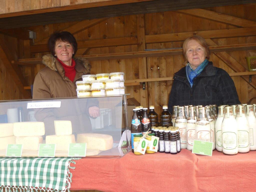
<svg viewBox="0 0 256 192"><path fill-rule="evenodd" d="M210 61L194 79L192 88L186 76L186 67L174 74L173 86L169 96L168 110L173 105L234 105L240 104L233 80L229 74Z"/></svg>

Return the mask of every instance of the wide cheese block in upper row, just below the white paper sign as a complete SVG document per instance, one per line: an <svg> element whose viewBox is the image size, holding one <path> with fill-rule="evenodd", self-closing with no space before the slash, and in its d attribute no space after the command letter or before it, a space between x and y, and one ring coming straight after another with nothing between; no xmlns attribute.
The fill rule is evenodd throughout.
<svg viewBox="0 0 256 192"><path fill-rule="evenodd" d="M13 123L13 134L22 136L43 136L45 134L44 122L17 122Z"/></svg>

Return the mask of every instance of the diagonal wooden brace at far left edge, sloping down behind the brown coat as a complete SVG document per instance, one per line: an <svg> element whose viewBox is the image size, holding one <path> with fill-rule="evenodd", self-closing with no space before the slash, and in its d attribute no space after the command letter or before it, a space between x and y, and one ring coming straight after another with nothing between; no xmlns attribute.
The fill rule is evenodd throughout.
<svg viewBox="0 0 256 192"><path fill-rule="evenodd" d="M4 63L6 70L10 73L10 76L13 78L16 83L18 89L21 91L23 97L25 99L31 98L31 95L28 91L24 90L24 86L26 85L25 78L22 76L22 73L15 63L12 63L13 60L12 55L5 44L3 36L0 36L0 59Z"/></svg>

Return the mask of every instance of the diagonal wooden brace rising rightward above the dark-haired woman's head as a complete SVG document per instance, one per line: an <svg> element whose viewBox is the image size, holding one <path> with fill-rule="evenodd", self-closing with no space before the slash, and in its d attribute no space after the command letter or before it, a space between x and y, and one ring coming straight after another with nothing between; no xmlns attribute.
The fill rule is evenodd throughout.
<svg viewBox="0 0 256 192"><path fill-rule="evenodd" d="M78 22L70 27L67 27L67 28L61 30L61 31L68 31L71 34L75 35L75 34L79 33L80 31L88 29L89 27L92 27L104 20L106 20L106 18L81 21L81 22ZM35 41L34 45L47 44L49 37L50 36L48 36L40 41Z"/></svg>

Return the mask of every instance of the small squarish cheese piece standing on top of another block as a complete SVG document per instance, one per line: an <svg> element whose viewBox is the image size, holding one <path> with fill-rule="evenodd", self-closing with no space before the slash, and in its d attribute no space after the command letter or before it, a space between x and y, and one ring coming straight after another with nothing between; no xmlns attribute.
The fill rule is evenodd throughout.
<svg viewBox="0 0 256 192"><path fill-rule="evenodd" d="M72 125L71 121L54 121L55 134L60 135L71 135Z"/></svg>

